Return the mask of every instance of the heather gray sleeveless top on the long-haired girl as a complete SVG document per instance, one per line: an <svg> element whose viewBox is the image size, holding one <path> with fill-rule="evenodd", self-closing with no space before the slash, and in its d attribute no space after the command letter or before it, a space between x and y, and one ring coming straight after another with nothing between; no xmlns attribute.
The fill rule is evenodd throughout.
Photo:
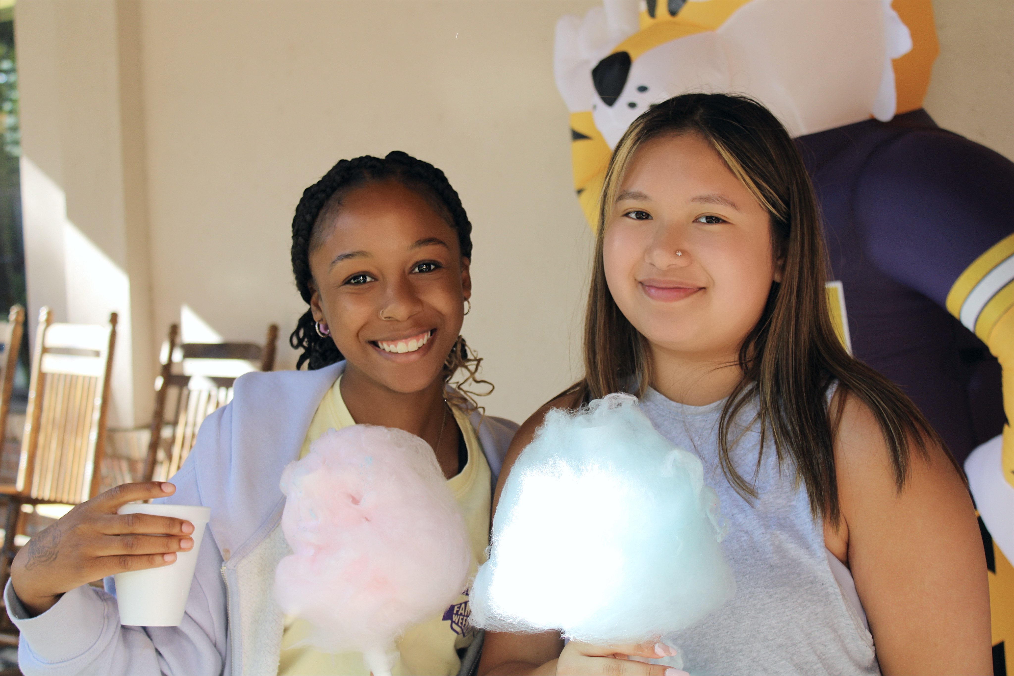
<svg viewBox="0 0 1014 676"><path fill-rule="evenodd" d="M736 594L672 634L683 668L692 674L879 674L852 576L824 546L823 525L810 516L809 498L802 485L796 487L789 461L780 471L774 449L766 445L753 504L722 472L718 421L724 403L687 406L655 390L641 402L663 437L701 458L705 481L718 493L729 523L722 547L736 576ZM742 420L754 410L748 408ZM732 449L732 461L747 479L758 448L754 427Z"/></svg>

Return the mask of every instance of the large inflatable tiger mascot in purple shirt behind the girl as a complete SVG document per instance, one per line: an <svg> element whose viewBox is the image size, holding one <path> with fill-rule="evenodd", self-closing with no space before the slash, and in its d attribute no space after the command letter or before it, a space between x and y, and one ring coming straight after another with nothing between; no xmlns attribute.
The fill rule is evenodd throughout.
<svg viewBox="0 0 1014 676"><path fill-rule="evenodd" d="M746 93L793 135L823 215L840 336L901 386L964 463L989 568L994 669L1008 674L1014 163L923 109L938 52L931 0L604 0L560 19L554 70L593 228L612 148L654 103Z"/></svg>

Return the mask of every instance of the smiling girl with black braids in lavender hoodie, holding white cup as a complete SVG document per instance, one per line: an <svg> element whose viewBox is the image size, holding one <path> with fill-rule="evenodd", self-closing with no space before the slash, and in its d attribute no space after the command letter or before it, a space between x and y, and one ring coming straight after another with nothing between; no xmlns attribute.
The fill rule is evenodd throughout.
<svg viewBox="0 0 1014 676"><path fill-rule="evenodd" d="M485 560L492 490L517 426L484 416L465 389L489 385L459 334L470 307L470 233L443 172L403 152L342 160L306 189L291 254L309 307L290 339L306 369L237 379L232 401L205 420L171 483L103 493L37 536L46 551L24 548L4 592L21 627L21 669L369 673L358 653L304 646L310 627L285 617L272 596L275 569L289 553L279 478L329 429L413 433L433 448L457 499L474 566ZM148 499L211 508L212 537L198 552L179 626L119 621L112 576L170 565L193 547L189 522L117 514ZM87 584L99 578L105 591ZM472 673L482 641L465 621L467 600L465 591L442 615L410 627L394 673Z"/></svg>

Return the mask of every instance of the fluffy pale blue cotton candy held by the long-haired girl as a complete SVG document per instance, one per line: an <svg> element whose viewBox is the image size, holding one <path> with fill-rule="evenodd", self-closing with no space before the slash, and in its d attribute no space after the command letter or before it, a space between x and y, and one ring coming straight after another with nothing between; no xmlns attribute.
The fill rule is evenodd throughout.
<svg viewBox="0 0 1014 676"><path fill-rule="evenodd" d="M551 410L504 485L472 623L598 646L657 641L732 597L719 519L701 461L635 397Z"/></svg>

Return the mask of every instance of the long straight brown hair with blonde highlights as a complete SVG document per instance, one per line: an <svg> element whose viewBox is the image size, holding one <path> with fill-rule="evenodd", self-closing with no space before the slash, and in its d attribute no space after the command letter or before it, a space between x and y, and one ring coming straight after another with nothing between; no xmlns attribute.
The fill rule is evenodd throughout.
<svg viewBox="0 0 1014 676"><path fill-rule="evenodd" d="M756 497L752 481L730 459L733 422L755 401L752 424L762 434L756 468L770 439L779 463L788 457L797 480L805 484L814 518L822 516L838 524L834 443L845 394L855 396L876 417L898 491L909 474L911 448L928 457L927 445L946 446L912 400L853 358L835 333L824 292L826 254L809 176L785 128L746 96L699 93L670 98L638 118L617 145L599 207L585 317L585 377L570 391L587 402L617 391L642 396L651 383L647 339L624 316L609 292L602 240L624 174L638 149L651 139L681 134L706 139L768 211L773 248L783 266L781 283L772 284L764 313L739 349L742 378L722 409L719 461L740 495ZM826 397L835 381L839 395L829 411Z"/></svg>

